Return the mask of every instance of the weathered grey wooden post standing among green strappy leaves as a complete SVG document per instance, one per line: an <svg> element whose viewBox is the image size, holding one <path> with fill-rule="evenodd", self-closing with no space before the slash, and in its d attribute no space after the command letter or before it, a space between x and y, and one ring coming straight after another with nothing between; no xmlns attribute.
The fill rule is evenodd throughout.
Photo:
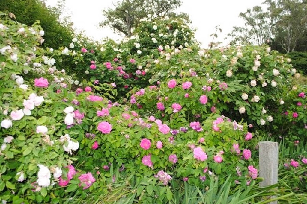
<svg viewBox="0 0 307 204"><path fill-rule="evenodd" d="M276 184L278 181L278 143L277 142L259 142L259 177L263 181L259 183L260 187ZM277 201L270 202L277 204Z"/></svg>

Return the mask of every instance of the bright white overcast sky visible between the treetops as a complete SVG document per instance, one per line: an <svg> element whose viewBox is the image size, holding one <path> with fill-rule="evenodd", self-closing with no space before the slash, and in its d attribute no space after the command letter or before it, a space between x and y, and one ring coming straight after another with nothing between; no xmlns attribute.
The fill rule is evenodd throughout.
<svg viewBox="0 0 307 204"><path fill-rule="evenodd" d="M115 34L111 28L100 28L99 22L103 20L102 10L108 7L114 8L113 3L118 0L66 0L65 10L70 15L71 21L77 30L84 30L85 34L94 39L101 40L109 37L119 40L122 37ZM182 5L177 12L185 12L190 15L192 27L196 28L196 40L206 47L212 41L210 35L215 32L215 26L222 28L218 33L219 42L224 40L232 26L243 26L243 20L239 18L240 12L248 8L261 5L264 0L181 0ZM45 0L49 6L55 6L57 0ZM215 40L215 42L217 42Z"/></svg>

